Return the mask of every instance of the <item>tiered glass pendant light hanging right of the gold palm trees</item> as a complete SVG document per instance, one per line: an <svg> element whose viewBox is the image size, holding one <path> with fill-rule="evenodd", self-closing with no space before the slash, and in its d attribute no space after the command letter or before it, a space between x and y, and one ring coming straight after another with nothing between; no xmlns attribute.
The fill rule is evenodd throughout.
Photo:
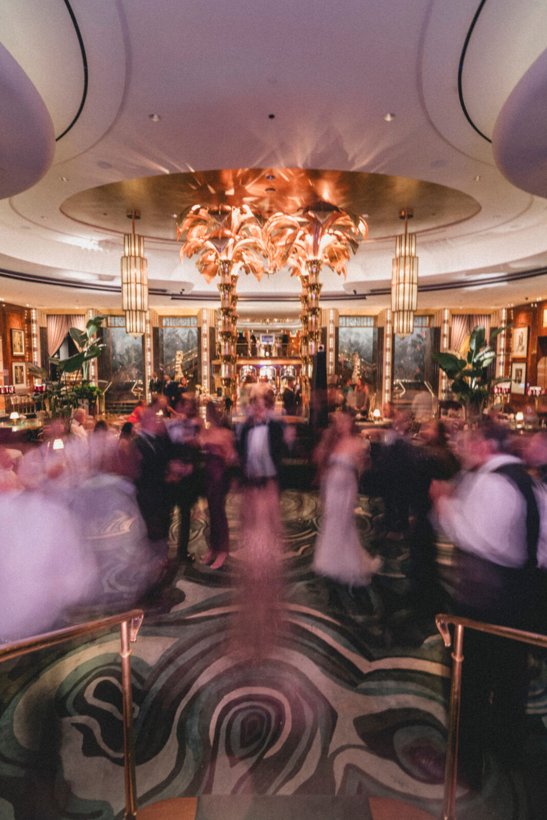
<svg viewBox="0 0 547 820"><path fill-rule="evenodd" d="M416 234L408 233L408 220L413 211L403 208L399 218L404 220L404 234L395 241L395 258L391 264L391 311L393 331L408 336L414 330L414 311L417 309L418 258Z"/></svg>

